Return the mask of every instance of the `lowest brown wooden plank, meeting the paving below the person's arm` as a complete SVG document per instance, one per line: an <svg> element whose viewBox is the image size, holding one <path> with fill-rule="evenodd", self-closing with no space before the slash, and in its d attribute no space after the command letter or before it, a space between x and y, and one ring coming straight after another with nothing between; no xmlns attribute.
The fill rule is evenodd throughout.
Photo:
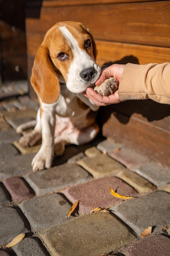
<svg viewBox="0 0 170 256"><path fill-rule="evenodd" d="M141 122L133 116L115 113L103 126L103 135L121 142L129 148L139 150L163 166L170 167L170 132L158 129L148 122Z"/></svg>

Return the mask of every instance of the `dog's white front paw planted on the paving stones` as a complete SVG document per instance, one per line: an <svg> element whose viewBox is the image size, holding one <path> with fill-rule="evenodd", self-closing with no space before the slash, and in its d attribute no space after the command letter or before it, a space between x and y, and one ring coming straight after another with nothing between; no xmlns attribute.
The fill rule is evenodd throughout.
<svg viewBox="0 0 170 256"><path fill-rule="evenodd" d="M37 155L33 158L32 168L33 171L40 171L43 169L49 169L52 166L53 155L46 152L38 151Z"/></svg>

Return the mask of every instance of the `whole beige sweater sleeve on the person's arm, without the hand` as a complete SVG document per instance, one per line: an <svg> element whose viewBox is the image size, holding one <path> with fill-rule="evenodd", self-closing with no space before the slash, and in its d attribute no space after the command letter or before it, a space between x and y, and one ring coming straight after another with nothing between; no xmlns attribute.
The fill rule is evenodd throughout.
<svg viewBox="0 0 170 256"><path fill-rule="evenodd" d="M152 99L170 104L170 63L126 64L118 94L121 101Z"/></svg>

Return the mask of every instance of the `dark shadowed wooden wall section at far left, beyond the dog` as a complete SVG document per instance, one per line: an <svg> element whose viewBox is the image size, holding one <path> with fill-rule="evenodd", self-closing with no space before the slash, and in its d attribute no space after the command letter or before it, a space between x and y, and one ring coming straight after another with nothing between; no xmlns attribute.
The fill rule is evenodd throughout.
<svg viewBox="0 0 170 256"><path fill-rule="evenodd" d="M26 1L0 1L0 76L2 81L27 79Z"/></svg>

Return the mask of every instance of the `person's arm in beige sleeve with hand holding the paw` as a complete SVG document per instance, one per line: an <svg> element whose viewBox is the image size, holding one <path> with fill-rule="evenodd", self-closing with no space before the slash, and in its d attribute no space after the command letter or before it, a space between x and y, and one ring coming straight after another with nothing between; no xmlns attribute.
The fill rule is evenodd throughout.
<svg viewBox="0 0 170 256"><path fill-rule="evenodd" d="M170 63L150 63L147 65L113 64L106 68L96 85L114 76L119 82L118 90L108 97L101 97L92 88L86 90L86 97L98 106L119 103L130 99L153 99L170 104Z"/></svg>

